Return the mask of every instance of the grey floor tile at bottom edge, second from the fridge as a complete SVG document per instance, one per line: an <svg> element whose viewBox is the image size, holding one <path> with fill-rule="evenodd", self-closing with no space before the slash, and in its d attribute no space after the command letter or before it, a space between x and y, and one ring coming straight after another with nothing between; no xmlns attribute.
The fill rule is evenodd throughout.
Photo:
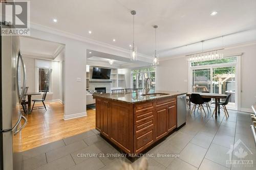
<svg viewBox="0 0 256 170"><path fill-rule="evenodd" d="M62 170L67 169L75 165L72 157L67 155L65 157L59 158L55 161L47 163L37 168L37 170Z"/></svg>

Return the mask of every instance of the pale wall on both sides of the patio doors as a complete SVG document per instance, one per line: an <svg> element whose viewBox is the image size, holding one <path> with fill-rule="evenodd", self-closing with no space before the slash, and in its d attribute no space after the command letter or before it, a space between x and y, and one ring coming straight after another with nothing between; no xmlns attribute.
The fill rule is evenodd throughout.
<svg viewBox="0 0 256 170"><path fill-rule="evenodd" d="M223 54L241 56L241 110L249 111L256 102L256 44L225 48ZM157 89L188 91L188 65L185 57L164 60L157 66Z"/></svg>

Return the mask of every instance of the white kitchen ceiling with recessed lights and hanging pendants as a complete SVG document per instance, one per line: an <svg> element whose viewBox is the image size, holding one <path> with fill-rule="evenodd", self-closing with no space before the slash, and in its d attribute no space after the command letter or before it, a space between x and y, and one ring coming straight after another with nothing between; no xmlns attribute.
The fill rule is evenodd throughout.
<svg viewBox="0 0 256 170"><path fill-rule="evenodd" d="M33 0L31 22L129 50L132 43L131 10L135 15L138 52L152 56L153 25L160 57L184 53L173 48L226 34L256 28L255 0ZM65 3L63 3L65 2ZM218 11L210 16L212 11ZM53 22L53 18L57 22ZM88 31L92 31L89 34ZM116 39L114 42L113 39ZM226 40L227 45L256 40L256 31ZM205 48L220 46L221 41ZM191 47L198 51L201 45Z"/></svg>

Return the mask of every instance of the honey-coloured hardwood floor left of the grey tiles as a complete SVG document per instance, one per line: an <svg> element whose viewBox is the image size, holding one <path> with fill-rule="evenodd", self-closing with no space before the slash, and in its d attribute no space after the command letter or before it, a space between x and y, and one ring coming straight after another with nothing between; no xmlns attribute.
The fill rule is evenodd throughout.
<svg viewBox="0 0 256 170"><path fill-rule="evenodd" d="M35 105L35 107L41 104ZM28 124L22 130L22 151L59 139L95 129L95 111L87 109L87 116L63 120L64 105L46 103L45 109L34 109L27 115Z"/></svg>

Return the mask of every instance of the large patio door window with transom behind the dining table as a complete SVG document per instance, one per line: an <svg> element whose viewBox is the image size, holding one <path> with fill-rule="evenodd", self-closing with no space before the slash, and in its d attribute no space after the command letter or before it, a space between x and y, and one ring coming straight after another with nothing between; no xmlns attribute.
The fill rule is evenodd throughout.
<svg viewBox="0 0 256 170"><path fill-rule="evenodd" d="M192 62L189 65L189 90L209 91L218 94L231 94L228 108L238 108L238 67L239 57ZM214 100L213 100L214 101ZM224 102L221 100L221 102Z"/></svg>

